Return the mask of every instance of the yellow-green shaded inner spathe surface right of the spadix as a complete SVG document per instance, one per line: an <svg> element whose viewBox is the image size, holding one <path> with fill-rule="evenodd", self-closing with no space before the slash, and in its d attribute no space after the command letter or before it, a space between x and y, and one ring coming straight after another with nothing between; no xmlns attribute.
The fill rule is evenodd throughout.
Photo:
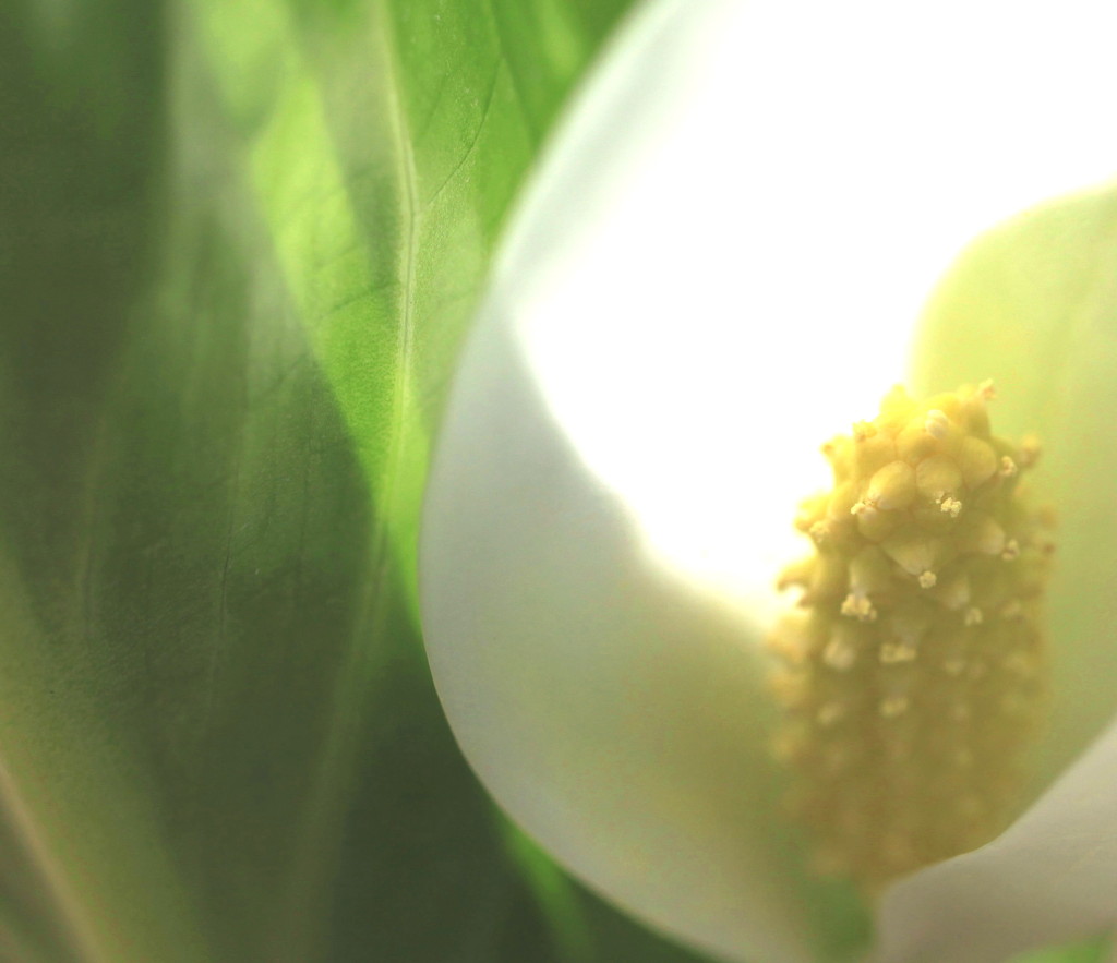
<svg viewBox="0 0 1117 963"><path fill-rule="evenodd" d="M1034 798L1117 711L1117 190L1044 204L975 241L933 297L913 376L991 376L1000 430L1035 431L1033 484L1056 507L1052 706Z"/></svg>

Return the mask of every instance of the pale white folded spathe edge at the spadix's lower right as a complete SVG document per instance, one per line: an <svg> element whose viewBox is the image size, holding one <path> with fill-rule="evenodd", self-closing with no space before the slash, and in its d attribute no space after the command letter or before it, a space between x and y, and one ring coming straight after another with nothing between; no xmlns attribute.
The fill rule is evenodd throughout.
<svg viewBox="0 0 1117 963"><path fill-rule="evenodd" d="M887 895L879 963L1000 963L1117 925L1117 725L989 846Z"/></svg>

